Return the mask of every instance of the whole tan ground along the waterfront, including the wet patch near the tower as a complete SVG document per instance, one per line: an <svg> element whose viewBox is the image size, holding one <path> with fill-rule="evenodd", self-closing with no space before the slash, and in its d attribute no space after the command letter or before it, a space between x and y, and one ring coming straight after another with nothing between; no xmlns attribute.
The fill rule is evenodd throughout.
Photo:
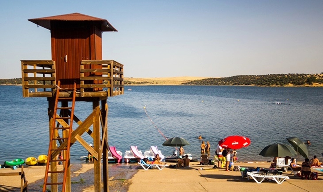
<svg viewBox="0 0 323 192"><path fill-rule="evenodd" d="M167 163L171 165L173 163ZM240 162L234 165L240 167L268 168L268 162ZM205 191L219 190L234 191L293 191L293 192L320 192L323 187L323 172L318 170L318 180L303 180L283 172L289 179L282 184L275 181L263 181L257 184L253 179L242 178L239 171L225 171L224 168L213 169L212 165L200 165L199 162L190 164L190 168L169 168L162 170L144 170L138 164L110 164L109 165L109 191L142 192L149 190L158 191ZM202 169L201 169L202 168ZM19 172L18 168L1 168L0 173ZM41 191L45 166L24 168L29 191ZM72 191L92 192L93 164L72 164ZM1 176L0 191L19 191L20 176Z"/></svg>

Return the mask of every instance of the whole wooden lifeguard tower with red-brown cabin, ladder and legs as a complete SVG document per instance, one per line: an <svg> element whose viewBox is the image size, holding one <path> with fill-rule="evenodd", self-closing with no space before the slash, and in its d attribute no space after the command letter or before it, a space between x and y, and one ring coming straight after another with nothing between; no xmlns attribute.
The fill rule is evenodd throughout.
<svg viewBox="0 0 323 192"><path fill-rule="evenodd" d="M123 65L102 60L101 34L117 30L106 19L79 13L28 20L51 32L51 60L21 60L23 97L48 101L50 136L43 192L49 185L52 192L71 191L69 151L76 140L94 157L95 191L101 191L103 154L103 190L109 191L107 98L123 94ZM93 103L93 111L83 121L74 115L77 101ZM73 121L78 124L74 130ZM93 148L82 139L85 132L93 138ZM59 154L62 158L57 159Z"/></svg>

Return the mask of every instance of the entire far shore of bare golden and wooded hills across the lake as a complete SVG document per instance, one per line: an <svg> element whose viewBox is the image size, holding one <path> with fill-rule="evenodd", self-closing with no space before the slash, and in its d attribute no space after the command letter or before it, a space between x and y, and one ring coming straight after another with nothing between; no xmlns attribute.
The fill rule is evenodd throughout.
<svg viewBox="0 0 323 192"><path fill-rule="evenodd" d="M49 83L49 82L48 82ZM22 84L21 78L0 79L2 85ZM320 74L236 75L232 77L154 77L124 78L125 85L255 85L255 86L323 86Z"/></svg>

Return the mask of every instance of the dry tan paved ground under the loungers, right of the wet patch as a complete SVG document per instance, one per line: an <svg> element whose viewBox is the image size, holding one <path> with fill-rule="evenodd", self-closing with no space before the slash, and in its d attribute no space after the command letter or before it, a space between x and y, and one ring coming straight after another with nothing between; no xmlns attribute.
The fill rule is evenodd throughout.
<svg viewBox="0 0 323 192"><path fill-rule="evenodd" d="M268 168L270 163L235 163L240 167ZM198 168L202 170L197 170ZM129 180L131 192L143 191L197 191L197 192L321 192L323 191L323 174L318 173L318 180L302 180L284 172L290 179L282 184L275 181L263 181L257 184L252 178L242 178L238 171L225 171L224 168L212 169L213 166L201 166L191 163L190 168L164 168L163 170L139 168L139 172Z"/></svg>

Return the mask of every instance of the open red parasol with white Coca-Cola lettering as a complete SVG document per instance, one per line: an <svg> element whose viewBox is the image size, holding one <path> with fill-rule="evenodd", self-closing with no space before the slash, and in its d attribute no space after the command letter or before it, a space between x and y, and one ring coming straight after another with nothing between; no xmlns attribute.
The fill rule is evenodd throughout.
<svg viewBox="0 0 323 192"><path fill-rule="evenodd" d="M247 147L249 144L249 138L239 135L231 135L219 141L221 147L230 149L240 149Z"/></svg>

